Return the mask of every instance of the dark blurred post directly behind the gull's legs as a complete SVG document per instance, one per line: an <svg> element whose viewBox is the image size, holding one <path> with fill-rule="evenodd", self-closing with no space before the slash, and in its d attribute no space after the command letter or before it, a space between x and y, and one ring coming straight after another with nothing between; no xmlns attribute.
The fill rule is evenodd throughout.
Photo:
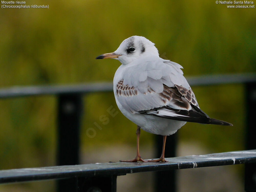
<svg viewBox="0 0 256 192"><path fill-rule="evenodd" d="M177 133L167 136L165 143L165 157L175 157ZM160 157L163 148L163 136L156 135L157 155ZM176 170L157 171L155 173L155 191L176 191Z"/></svg>

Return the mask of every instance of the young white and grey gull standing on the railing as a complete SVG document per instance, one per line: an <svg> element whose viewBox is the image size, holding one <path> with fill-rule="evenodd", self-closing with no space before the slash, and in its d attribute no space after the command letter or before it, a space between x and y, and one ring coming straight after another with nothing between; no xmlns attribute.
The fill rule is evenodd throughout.
<svg viewBox="0 0 256 192"><path fill-rule="evenodd" d="M195 94L183 76L183 67L160 58L155 44L145 37L129 37L116 51L96 57L105 58L122 63L113 80L115 101L124 116L137 125L136 157L122 162L167 162L164 158L166 136L176 133L186 122L232 126L209 118L199 108ZM159 159L141 158L140 128L163 135L163 151Z"/></svg>

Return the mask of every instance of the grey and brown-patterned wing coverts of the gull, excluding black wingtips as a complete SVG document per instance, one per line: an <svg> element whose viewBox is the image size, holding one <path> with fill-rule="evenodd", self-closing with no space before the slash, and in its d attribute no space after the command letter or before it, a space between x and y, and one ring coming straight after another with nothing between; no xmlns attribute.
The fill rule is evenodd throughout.
<svg viewBox="0 0 256 192"><path fill-rule="evenodd" d="M132 113L168 106L191 110L197 105L194 93L179 64L162 58L148 58L131 63L116 84L116 99Z"/></svg>

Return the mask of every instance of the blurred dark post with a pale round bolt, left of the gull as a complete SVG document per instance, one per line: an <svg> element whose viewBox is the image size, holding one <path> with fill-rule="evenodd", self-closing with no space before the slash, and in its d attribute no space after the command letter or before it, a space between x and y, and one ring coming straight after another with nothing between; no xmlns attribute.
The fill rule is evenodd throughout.
<svg viewBox="0 0 256 192"><path fill-rule="evenodd" d="M60 94L58 97L57 165L79 164L79 132L82 114L81 94ZM58 191L76 191L76 178L58 181Z"/></svg>

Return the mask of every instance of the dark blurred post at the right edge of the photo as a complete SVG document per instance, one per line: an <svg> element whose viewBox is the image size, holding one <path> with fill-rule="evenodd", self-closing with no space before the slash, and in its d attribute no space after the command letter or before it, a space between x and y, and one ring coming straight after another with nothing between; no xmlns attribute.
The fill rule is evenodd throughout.
<svg viewBox="0 0 256 192"><path fill-rule="evenodd" d="M256 149L256 83L246 84L247 135L246 149ZM256 163L245 164L245 190L256 191Z"/></svg>

